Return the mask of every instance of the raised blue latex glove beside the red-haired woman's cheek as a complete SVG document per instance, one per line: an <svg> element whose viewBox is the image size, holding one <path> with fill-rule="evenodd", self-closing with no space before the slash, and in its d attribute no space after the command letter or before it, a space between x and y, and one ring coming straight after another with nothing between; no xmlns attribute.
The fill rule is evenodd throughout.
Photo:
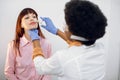
<svg viewBox="0 0 120 80"><path fill-rule="evenodd" d="M46 17L40 17L43 21L45 21L46 25L41 25L41 27L45 28L52 34L57 34L58 29L54 26L52 20Z"/></svg>

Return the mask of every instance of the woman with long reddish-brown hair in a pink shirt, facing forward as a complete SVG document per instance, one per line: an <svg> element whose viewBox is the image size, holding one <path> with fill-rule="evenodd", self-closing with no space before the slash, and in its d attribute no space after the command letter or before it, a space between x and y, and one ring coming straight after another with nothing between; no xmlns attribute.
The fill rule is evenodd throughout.
<svg viewBox="0 0 120 80"><path fill-rule="evenodd" d="M38 15L31 8L23 9L17 19L15 39L8 44L5 63L5 76L8 80L50 80L50 76L40 76L32 61L32 42L28 31L37 28L44 56L51 55L51 45L42 34Z"/></svg>

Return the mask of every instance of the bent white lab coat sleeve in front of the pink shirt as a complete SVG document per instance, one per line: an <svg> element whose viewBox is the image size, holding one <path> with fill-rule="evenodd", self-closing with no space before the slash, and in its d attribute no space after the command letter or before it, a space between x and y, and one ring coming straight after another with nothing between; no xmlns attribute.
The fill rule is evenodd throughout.
<svg viewBox="0 0 120 80"><path fill-rule="evenodd" d="M63 75L63 70L59 62L59 55L55 53L52 57L45 59L42 56L37 56L34 58L34 64L37 72L42 74L50 75Z"/></svg>

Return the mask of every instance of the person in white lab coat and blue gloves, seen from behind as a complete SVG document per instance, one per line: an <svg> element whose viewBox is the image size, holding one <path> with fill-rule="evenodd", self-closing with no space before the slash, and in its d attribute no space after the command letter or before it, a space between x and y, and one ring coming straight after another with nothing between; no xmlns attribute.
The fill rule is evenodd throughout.
<svg viewBox="0 0 120 80"><path fill-rule="evenodd" d="M69 48L57 51L45 59L38 31L29 31L36 70L40 75L57 75L59 80L104 80L105 51L96 40L105 34L106 17L96 4L87 0L67 2L64 12L67 24L65 33L55 28L49 18L42 18L46 22L43 27L66 40L71 45Z"/></svg>

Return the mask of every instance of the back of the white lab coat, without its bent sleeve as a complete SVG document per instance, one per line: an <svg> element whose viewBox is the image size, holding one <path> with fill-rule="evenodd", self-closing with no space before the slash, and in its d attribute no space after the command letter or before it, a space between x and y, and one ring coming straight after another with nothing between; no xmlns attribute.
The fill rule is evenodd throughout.
<svg viewBox="0 0 120 80"><path fill-rule="evenodd" d="M101 43L72 46L55 54L62 68L59 80L103 80L105 51Z"/></svg>

